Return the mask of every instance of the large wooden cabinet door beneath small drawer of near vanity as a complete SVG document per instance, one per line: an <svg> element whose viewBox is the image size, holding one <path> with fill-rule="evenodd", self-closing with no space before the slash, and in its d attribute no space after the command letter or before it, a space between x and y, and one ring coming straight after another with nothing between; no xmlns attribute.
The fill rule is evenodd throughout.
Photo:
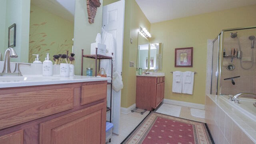
<svg viewBox="0 0 256 144"><path fill-rule="evenodd" d="M40 124L40 144L105 144L106 102Z"/></svg>

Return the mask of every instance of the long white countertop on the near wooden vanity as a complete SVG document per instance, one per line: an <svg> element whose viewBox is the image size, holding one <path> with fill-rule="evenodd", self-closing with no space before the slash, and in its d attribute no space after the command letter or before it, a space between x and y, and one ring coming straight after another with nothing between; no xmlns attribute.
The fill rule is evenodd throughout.
<svg viewBox="0 0 256 144"><path fill-rule="evenodd" d="M94 77L94 76L0 76L0 88L21 87L21 86L38 86L48 84L66 84L74 82L92 82L111 80L111 78Z"/></svg>

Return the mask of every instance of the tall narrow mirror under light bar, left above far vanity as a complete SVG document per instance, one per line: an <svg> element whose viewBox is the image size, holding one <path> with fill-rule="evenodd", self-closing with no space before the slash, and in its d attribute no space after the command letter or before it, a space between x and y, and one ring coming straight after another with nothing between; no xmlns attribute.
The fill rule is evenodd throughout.
<svg viewBox="0 0 256 144"><path fill-rule="evenodd" d="M137 68L148 69L149 40L138 32Z"/></svg>

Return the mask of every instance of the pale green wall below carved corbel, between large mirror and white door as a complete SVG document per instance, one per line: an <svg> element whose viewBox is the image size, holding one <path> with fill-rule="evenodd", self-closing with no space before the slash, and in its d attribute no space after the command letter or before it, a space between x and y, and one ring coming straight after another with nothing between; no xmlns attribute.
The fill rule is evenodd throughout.
<svg viewBox="0 0 256 144"><path fill-rule="evenodd" d="M91 43L95 42L97 33L101 33L102 26L102 0L94 18L94 23L88 22L86 0L76 0L75 23L74 23L74 56L75 75L81 75L81 50L84 54L90 54ZM95 68L95 60L84 58L83 75L86 75L86 68Z"/></svg>

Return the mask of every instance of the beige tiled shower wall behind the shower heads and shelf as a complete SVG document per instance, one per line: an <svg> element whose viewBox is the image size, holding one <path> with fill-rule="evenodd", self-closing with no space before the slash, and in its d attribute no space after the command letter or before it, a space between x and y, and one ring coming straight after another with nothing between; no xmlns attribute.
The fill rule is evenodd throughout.
<svg viewBox="0 0 256 144"><path fill-rule="evenodd" d="M250 68L248 70L242 69L240 66L240 59L238 58L223 58L222 61L222 78L221 78L221 93L222 94L238 94L240 92L252 92L256 93L256 40L254 40L254 48L251 49L252 40L249 40L249 36L256 36L256 30L238 30L238 39L240 42L240 48L242 51L242 57L251 57L253 52L253 65L250 68L251 62L242 62L244 68ZM224 49L226 55L231 55L231 49L235 48L239 50L237 38L231 38L230 32L225 32ZM235 69L229 71L223 63L234 64ZM223 80L224 78L230 78L234 76L240 76L240 78L234 79L235 85L231 80Z"/></svg>

